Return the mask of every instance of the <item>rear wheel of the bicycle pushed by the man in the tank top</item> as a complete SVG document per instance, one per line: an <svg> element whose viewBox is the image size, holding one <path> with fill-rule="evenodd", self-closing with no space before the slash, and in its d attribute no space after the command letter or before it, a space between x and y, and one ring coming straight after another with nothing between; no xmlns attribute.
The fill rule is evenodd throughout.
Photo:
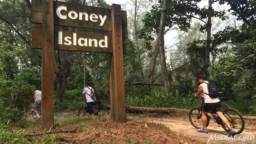
<svg viewBox="0 0 256 144"><path fill-rule="evenodd" d="M236 134L240 134L244 130L243 116L237 110L231 108L225 109L223 112L223 115L228 119L231 128ZM222 123L221 126L228 132L228 127L224 123Z"/></svg>

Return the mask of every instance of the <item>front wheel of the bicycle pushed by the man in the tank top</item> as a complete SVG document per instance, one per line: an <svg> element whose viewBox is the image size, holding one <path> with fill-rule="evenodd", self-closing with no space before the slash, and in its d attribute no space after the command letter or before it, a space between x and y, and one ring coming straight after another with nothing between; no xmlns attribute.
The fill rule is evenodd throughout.
<svg viewBox="0 0 256 144"><path fill-rule="evenodd" d="M201 117L202 117L202 110L199 109L199 107L194 107L190 110L189 121L197 129L200 129L203 127ZM206 126L208 125L209 125L209 117L207 118Z"/></svg>

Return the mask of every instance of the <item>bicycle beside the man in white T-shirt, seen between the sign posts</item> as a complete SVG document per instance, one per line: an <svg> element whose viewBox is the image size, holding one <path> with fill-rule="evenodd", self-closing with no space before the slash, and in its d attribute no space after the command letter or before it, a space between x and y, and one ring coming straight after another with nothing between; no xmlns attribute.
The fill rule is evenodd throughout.
<svg viewBox="0 0 256 144"><path fill-rule="evenodd" d="M84 108L80 108L78 111L78 116L85 116L86 115L86 102L80 102L79 104L83 104L85 105ZM94 105L93 108L93 114L97 115L97 116L105 116L105 115L109 115L109 111L106 107L103 107L101 104L101 101L96 101L95 102L96 105Z"/></svg>

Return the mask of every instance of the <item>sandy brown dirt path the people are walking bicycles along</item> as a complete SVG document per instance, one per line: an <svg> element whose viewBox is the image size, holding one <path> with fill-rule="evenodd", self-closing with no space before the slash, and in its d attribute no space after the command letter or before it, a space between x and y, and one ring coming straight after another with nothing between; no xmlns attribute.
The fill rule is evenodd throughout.
<svg viewBox="0 0 256 144"><path fill-rule="evenodd" d="M67 117L76 117L77 111L71 111L71 112L55 112L54 118L67 118ZM245 129L240 134L237 135L237 140L226 140L223 138L226 138L227 133L224 131L224 129L221 127L221 125L218 125L210 120L209 126L208 126L208 134L204 133L198 133L196 132L196 129L190 124L189 119L186 115L184 116L170 116L170 115L164 115L159 116L158 114L155 115L148 115L148 116L128 116L129 119L137 119L142 121L149 121L149 122L155 122L155 123L161 123L167 127L170 128L172 131L176 131L178 133L183 134L185 137L197 139L205 143L209 144L256 144L256 121L245 121ZM32 115L28 118L29 120L35 120L33 119ZM216 140L214 140L214 136L216 135ZM210 137L213 137L213 139L209 139ZM245 136L254 136L251 140L245 139L241 140ZM222 140L217 140L217 139ZM240 139L240 140L239 140Z"/></svg>

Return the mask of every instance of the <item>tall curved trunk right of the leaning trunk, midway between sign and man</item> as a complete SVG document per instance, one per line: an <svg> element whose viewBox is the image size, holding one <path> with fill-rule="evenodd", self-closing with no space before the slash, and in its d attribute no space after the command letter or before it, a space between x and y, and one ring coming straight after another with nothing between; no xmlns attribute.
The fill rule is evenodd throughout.
<svg viewBox="0 0 256 144"><path fill-rule="evenodd" d="M164 52L164 28L165 28L165 17L166 17L166 9L167 8L167 0L163 0L163 8L162 8L162 14L161 14L161 19L160 19L160 24L159 24L159 34L158 34L158 39L159 39L159 55L160 55L160 63L161 63L161 69L162 69L162 74L163 74L163 79L164 79L164 88L166 93L171 92L171 86L170 86L170 80L167 72L167 67L166 67L166 61L165 61L165 52Z"/></svg>

